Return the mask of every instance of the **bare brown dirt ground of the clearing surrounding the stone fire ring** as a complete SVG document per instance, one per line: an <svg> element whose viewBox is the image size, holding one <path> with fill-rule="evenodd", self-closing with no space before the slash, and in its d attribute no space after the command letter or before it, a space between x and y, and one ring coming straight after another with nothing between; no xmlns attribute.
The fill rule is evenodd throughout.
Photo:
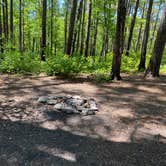
<svg viewBox="0 0 166 166"><path fill-rule="evenodd" d="M0 166L165 166L166 75L123 78L1 75ZM99 112L66 115L37 102L67 94L94 97Z"/></svg>

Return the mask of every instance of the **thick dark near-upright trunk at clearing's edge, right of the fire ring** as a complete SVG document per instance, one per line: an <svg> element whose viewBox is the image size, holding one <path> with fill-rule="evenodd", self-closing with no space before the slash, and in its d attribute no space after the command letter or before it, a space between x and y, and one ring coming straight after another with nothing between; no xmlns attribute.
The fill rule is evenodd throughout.
<svg viewBox="0 0 166 166"><path fill-rule="evenodd" d="M121 80L120 76L120 67L121 67L121 55L122 55L122 47L124 40L124 28L125 28L125 20L126 20L126 0L118 1L118 9L117 9L117 23L116 23L116 33L115 40L113 46L113 61L112 61L112 76L113 80L115 77L117 80Z"/></svg>

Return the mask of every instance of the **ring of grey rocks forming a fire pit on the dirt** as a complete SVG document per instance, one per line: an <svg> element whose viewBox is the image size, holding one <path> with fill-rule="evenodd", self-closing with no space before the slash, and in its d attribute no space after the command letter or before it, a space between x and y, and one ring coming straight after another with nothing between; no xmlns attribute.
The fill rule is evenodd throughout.
<svg viewBox="0 0 166 166"><path fill-rule="evenodd" d="M66 114L81 114L88 116L94 115L95 112L98 111L97 104L94 99L82 98L80 96L42 96L38 99L38 102L46 105L53 105L54 110L59 110Z"/></svg>

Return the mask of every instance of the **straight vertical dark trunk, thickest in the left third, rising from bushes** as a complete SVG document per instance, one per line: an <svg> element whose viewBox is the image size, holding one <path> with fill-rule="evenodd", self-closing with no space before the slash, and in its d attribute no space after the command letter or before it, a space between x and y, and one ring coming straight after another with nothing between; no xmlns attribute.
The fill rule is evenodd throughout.
<svg viewBox="0 0 166 166"><path fill-rule="evenodd" d="M41 60L45 61L46 50L46 21L47 21L47 0L43 0L42 4L42 37L41 37Z"/></svg>

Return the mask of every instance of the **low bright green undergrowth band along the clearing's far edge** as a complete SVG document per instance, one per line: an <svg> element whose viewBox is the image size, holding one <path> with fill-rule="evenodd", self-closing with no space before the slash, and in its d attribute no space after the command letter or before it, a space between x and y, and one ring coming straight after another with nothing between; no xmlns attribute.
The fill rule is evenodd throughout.
<svg viewBox="0 0 166 166"><path fill-rule="evenodd" d="M19 54L9 52L0 54L0 71L4 73L41 73L47 75L73 75L73 74L92 74L95 82L109 82L109 73L112 67L112 54L106 57L80 55L49 55L46 62L40 61L40 56L33 53ZM150 54L147 54L149 63ZM129 56L122 55L122 72L137 72L140 60L140 53L130 52ZM161 72L166 71L166 57L163 57Z"/></svg>

